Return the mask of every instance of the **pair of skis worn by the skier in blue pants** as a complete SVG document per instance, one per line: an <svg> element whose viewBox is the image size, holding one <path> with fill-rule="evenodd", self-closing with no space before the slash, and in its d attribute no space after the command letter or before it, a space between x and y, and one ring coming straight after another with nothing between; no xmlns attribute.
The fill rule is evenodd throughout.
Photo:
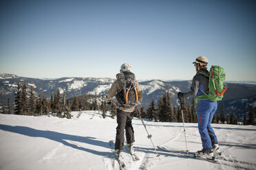
<svg viewBox="0 0 256 170"><path fill-rule="evenodd" d="M158 150L164 151L164 152L168 152L170 154L177 155L177 156L193 158L193 159L198 159L198 160L205 160L205 161L212 162L212 163L215 163L215 164L218 164L218 165L226 165L228 167L233 167L235 169L248 169L246 167L242 167L242 166L239 166L239 165L230 165L230 164L228 164L226 162L220 162L219 160L228 160L228 159L224 158L223 156L217 156L215 158L215 160L211 160L211 159L207 159L207 158L202 158L202 157L194 156L194 153L190 152L190 151L183 151L183 150L178 150L178 149L167 149L165 147L160 147L160 146L158 146ZM232 160L232 161L231 160L228 160L228 161L235 162L235 160ZM242 163L243 161L236 160L236 162ZM249 162L246 162L246 165L253 165L253 164L249 163Z"/></svg>

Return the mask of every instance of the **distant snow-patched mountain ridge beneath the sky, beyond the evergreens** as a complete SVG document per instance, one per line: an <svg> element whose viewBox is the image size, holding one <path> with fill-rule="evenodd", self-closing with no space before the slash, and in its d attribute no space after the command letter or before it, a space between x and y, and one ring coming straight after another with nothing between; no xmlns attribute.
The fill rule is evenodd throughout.
<svg viewBox="0 0 256 170"><path fill-rule="evenodd" d="M17 83L20 82L21 86L23 82L27 84L29 90L30 86L34 87L34 94L38 96L40 93L45 94L47 99L50 99L51 94L55 93L57 89L60 90L61 94L67 91L67 99L74 96L81 96L85 94L87 90L88 95L95 95L95 93L100 96L101 93L106 95L107 90L111 87L111 84L115 79L111 78L92 78L92 77L62 77L55 80L41 80L28 77L19 77L13 74L0 74L0 106L6 106L8 98L10 98L10 103L14 103L15 93L17 92ZM188 81L173 81L164 82L162 80L149 80L140 82L143 90L143 101L142 105L147 108L151 100L154 99L156 104L162 93L169 90L171 96L171 103L176 105L177 93L179 91L187 92L191 88L191 80ZM251 84L234 84L225 83L228 88L223 101L225 102L226 112L231 112L232 105L235 101L239 99L248 99L248 102L253 102L250 100L255 100L256 97L256 86ZM243 108L244 107L244 108ZM219 106L219 109L221 107ZM228 108L230 108L228 110ZM241 106L237 108L240 110L237 114L242 114L244 110L248 112L248 106Z"/></svg>

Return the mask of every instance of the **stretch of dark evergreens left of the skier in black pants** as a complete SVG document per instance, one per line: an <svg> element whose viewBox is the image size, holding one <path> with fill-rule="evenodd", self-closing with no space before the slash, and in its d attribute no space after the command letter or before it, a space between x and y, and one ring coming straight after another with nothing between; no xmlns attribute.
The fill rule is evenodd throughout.
<svg viewBox="0 0 256 170"><path fill-rule="evenodd" d="M85 91L85 95L83 96L83 102L78 100L78 97L74 97L73 100L67 100L66 96L66 91L61 95L58 89L54 95L51 95L50 101L47 101L45 94L42 95L40 93L38 97L34 95L33 86L30 86L30 89L28 90L25 82L23 83L22 88L18 82L17 93L14 101L14 114L39 116L50 114L50 112L52 112L56 113L57 117L67 117L67 119L70 119L71 111L100 109L103 110L103 117L105 118L105 113L107 111L105 101L102 101L102 104L99 105L96 94L94 95L94 99L92 99L91 103L89 103L87 91ZM10 113L10 109L8 113Z"/></svg>

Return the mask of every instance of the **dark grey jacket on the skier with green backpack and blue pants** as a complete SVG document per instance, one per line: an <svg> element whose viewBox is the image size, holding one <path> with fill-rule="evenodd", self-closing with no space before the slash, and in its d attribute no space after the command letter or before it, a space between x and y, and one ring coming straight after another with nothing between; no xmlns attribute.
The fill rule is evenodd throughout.
<svg viewBox="0 0 256 170"><path fill-rule="evenodd" d="M208 73L207 70L200 70L205 73ZM201 88L204 93L208 93L209 90L209 77L206 77L199 72L193 77L193 81L191 84L191 90L187 93L183 93L183 97L194 97L195 95L203 95Z"/></svg>

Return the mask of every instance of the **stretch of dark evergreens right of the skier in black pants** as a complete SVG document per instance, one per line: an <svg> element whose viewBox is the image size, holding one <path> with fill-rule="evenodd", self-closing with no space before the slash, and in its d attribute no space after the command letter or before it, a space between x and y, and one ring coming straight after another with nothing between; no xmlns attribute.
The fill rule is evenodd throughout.
<svg viewBox="0 0 256 170"><path fill-rule="evenodd" d="M197 114L194 106L194 98L192 102L189 102L187 99L184 98L182 99L182 110L185 123L198 123ZM154 99L152 99L149 107L145 111L144 110L145 109L143 107L140 108L142 118L162 122L182 122L181 108L180 106L172 106L169 92L162 94L157 105L155 104ZM136 117L138 117L138 115L136 115ZM222 112L221 114L214 114L212 123L226 123L237 125L238 120L237 117L235 117L234 109L232 110L231 114L226 114L224 112L224 103L222 102ZM250 107L249 113L244 114L243 124L255 125L253 104Z"/></svg>

